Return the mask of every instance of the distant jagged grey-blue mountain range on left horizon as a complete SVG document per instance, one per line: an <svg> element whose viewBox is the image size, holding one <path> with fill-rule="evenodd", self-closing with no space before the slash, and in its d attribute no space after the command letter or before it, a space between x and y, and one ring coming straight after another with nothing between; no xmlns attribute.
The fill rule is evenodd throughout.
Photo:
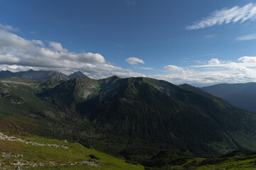
<svg viewBox="0 0 256 170"><path fill-rule="evenodd" d="M23 79L59 79L59 80L68 80L68 79L75 79L75 78L89 78L82 74L82 72L74 72L69 76L62 74L60 72L54 71L34 71L32 69L28 70L27 72L10 72L8 70L0 72L0 79L7 79L11 77L20 77Z"/></svg>

